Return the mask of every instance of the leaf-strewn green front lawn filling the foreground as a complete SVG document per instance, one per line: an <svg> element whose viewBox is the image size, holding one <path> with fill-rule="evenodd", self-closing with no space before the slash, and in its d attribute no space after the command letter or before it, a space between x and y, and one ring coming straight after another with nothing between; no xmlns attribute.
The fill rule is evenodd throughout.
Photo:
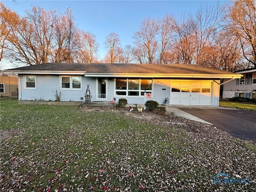
<svg viewBox="0 0 256 192"><path fill-rule="evenodd" d="M0 122L2 191L256 190L256 145L208 124L2 99ZM214 184L221 172L250 182Z"/></svg>

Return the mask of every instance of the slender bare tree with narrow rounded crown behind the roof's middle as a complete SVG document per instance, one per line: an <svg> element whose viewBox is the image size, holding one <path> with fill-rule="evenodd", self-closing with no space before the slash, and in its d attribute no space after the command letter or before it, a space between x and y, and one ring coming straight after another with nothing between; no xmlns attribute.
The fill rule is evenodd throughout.
<svg viewBox="0 0 256 192"><path fill-rule="evenodd" d="M108 49L108 54L106 58L108 58L108 62L116 63L118 62L118 57L120 56L120 38L116 33L110 33L106 37L105 48Z"/></svg>

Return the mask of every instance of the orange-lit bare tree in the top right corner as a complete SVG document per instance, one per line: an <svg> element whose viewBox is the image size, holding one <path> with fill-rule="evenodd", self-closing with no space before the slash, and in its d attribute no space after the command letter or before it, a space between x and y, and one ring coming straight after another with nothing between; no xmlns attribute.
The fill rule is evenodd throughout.
<svg viewBox="0 0 256 192"><path fill-rule="evenodd" d="M229 26L237 36L244 58L256 67L256 1L236 0L229 7Z"/></svg>

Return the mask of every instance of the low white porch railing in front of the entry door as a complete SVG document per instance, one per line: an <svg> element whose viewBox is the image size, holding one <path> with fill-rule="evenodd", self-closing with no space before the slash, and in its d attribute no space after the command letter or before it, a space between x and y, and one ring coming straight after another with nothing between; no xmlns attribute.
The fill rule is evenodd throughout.
<svg viewBox="0 0 256 192"><path fill-rule="evenodd" d="M114 94L85 94L84 102L106 102L112 103L114 102Z"/></svg>

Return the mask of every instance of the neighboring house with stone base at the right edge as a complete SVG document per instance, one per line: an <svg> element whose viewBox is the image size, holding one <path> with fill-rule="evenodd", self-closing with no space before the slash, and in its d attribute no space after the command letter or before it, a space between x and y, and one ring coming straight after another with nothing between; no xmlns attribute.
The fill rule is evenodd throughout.
<svg viewBox="0 0 256 192"><path fill-rule="evenodd" d="M227 82L223 86L223 98L246 97L256 98L256 68L236 71L243 76ZM228 81L225 79L224 82Z"/></svg>

